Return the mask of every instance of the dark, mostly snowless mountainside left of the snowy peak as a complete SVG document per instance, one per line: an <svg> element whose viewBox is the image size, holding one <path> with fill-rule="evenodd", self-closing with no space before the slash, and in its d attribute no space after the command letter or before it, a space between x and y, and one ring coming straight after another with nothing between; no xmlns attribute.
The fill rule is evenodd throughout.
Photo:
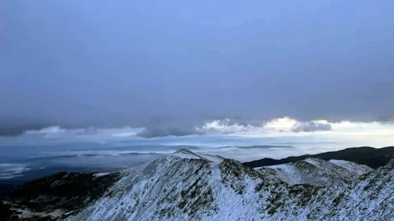
<svg viewBox="0 0 394 221"><path fill-rule="evenodd" d="M0 204L0 221L52 220L51 216L31 216L18 219L16 209L33 213L50 213L57 209L64 213L86 207L98 199L114 182L127 172L113 172L95 175L95 173L61 172L45 178L33 180L16 187L3 203Z"/></svg>

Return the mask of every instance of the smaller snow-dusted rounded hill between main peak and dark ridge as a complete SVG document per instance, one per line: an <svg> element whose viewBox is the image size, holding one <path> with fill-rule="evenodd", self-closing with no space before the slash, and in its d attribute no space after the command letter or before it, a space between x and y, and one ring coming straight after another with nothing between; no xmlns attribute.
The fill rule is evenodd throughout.
<svg viewBox="0 0 394 221"><path fill-rule="evenodd" d="M290 185L330 186L349 183L363 173L372 171L372 168L347 161L307 158L288 164L260 167L257 170L264 177Z"/></svg>

